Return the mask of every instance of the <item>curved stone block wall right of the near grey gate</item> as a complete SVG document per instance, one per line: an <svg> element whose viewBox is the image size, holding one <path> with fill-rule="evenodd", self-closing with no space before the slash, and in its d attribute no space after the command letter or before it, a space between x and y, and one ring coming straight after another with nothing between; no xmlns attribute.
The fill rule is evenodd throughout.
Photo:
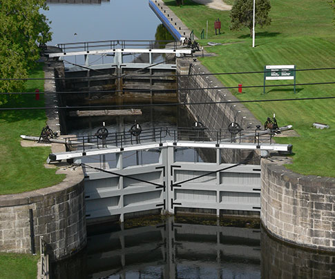
<svg viewBox="0 0 335 279"><path fill-rule="evenodd" d="M335 251L335 178L296 174L285 163L262 159L262 224L280 240Z"/></svg>

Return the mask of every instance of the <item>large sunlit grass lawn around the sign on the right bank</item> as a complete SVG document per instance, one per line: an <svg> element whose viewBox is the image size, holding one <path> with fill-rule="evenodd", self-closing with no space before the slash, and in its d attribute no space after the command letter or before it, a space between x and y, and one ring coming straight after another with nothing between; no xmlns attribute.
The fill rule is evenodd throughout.
<svg viewBox="0 0 335 279"><path fill-rule="evenodd" d="M212 10L189 0L179 8L175 1L165 0L171 10L200 37L202 28L209 20L208 40L221 43L239 42L229 45L208 47L218 56L205 57L200 61L215 72L262 71L265 65L296 65L297 69L335 67L334 14L327 1L323 0L273 0L270 17L272 23L266 28L256 26L256 48L251 48L249 29L237 32L229 30L229 12ZM212 23L222 21L223 34L215 35ZM297 83L320 83L335 81L335 70L297 72ZM236 74L218 76L227 86L262 85L263 74ZM289 84L291 81L267 81L267 85ZM247 88L243 94L232 90L240 100L285 99L315 96L335 96L335 85ZM300 137L278 138L278 143L294 145L293 165L289 169L301 174L335 176L335 100L285 101L249 103L246 105L261 121L276 113L279 125L293 125ZM312 128L314 122L327 123L329 130Z"/></svg>

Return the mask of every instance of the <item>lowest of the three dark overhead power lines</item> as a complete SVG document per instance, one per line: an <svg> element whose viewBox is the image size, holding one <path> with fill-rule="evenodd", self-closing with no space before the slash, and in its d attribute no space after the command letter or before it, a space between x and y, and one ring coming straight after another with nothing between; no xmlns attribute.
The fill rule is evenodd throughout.
<svg viewBox="0 0 335 279"><path fill-rule="evenodd" d="M1 107L1 110L77 110L77 109L108 109L108 108L120 108L120 107L162 107L171 105L212 105L220 103L264 103L264 102L280 102L280 101L308 101L308 100L327 100L335 99L335 96L327 97L311 97L311 98L297 98L297 99L266 99L266 100L247 100L247 101L220 101L220 102L197 102L197 103L157 103L157 104L135 104L135 105L78 105L72 107Z"/></svg>

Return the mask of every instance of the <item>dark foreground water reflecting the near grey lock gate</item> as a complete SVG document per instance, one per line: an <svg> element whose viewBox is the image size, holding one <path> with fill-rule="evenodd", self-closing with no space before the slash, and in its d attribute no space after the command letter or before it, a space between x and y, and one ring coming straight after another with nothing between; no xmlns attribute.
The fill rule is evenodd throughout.
<svg viewBox="0 0 335 279"><path fill-rule="evenodd" d="M285 245L265 231L160 216L95 226L86 249L52 278L334 278L335 256ZM197 222L199 219L197 220ZM204 225L209 224L209 225Z"/></svg>

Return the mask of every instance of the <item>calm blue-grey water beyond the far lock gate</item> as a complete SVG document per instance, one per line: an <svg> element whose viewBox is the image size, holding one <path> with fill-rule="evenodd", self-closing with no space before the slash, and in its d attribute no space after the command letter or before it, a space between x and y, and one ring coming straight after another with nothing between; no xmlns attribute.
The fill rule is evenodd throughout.
<svg viewBox="0 0 335 279"><path fill-rule="evenodd" d="M148 0L46 2L50 10L44 13L52 21L50 45L113 39L153 40L160 24Z"/></svg>

